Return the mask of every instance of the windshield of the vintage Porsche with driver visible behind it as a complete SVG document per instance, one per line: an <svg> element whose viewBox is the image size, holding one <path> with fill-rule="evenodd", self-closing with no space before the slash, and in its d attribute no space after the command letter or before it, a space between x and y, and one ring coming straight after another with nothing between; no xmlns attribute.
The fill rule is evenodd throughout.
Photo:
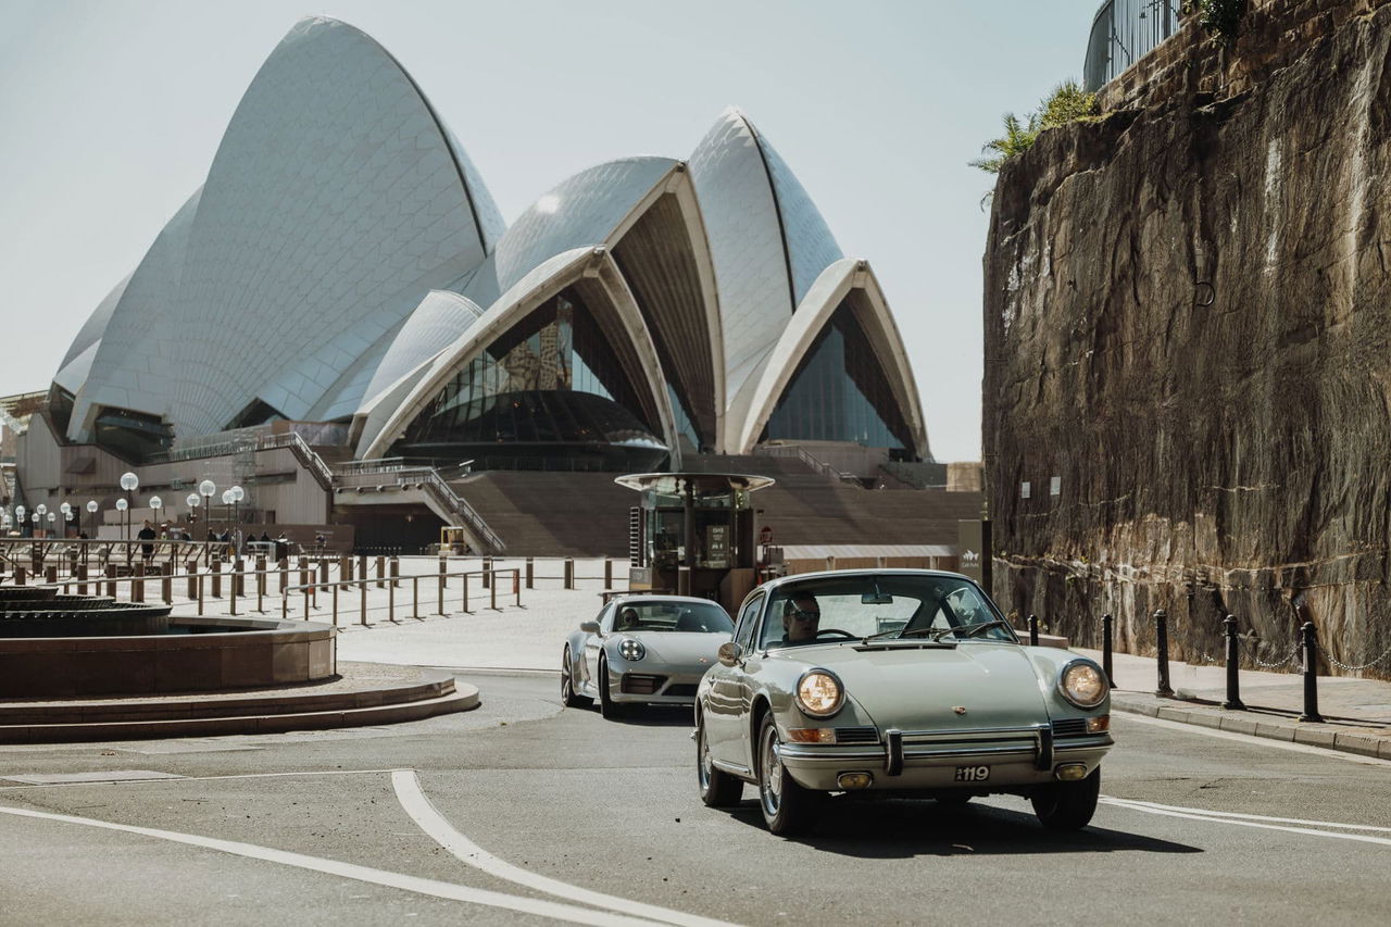
<svg viewBox="0 0 1391 927"><path fill-rule="evenodd" d="M764 647L864 637L1015 640L985 593L957 576L818 576L779 586L768 607Z"/></svg>

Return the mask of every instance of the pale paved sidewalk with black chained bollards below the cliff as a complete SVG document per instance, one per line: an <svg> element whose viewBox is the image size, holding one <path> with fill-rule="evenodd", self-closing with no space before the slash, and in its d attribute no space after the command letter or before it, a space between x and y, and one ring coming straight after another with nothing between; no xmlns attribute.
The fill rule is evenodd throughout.
<svg viewBox="0 0 1391 927"><path fill-rule="evenodd" d="M1102 661L1099 650L1072 649ZM1173 699L1155 695L1157 661L1127 653L1113 656L1116 689L1111 707L1155 718L1198 724L1206 728L1251 734L1274 740L1306 743L1391 760L1391 682L1319 678L1319 714L1324 722L1299 721L1303 713L1303 675L1259 672L1238 675L1245 711L1223 708L1227 699L1225 667L1170 661Z"/></svg>

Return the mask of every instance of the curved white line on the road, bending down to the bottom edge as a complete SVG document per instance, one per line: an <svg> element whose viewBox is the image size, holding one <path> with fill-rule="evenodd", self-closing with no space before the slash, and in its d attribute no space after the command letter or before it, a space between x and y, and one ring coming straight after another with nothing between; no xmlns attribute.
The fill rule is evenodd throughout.
<svg viewBox="0 0 1391 927"><path fill-rule="evenodd" d="M409 814L410 818L420 825L420 830L433 837L440 846L458 856L462 862L473 866L474 869L483 870L488 876L504 878L509 882L517 882L519 885L526 885L527 888L534 888L536 891L545 892L548 895L556 895L569 901L595 905L598 908L606 908L626 914L648 917L665 924L683 924L689 927L727 927L727 921L723 920L711 920L708 917L686 914L669 908L658 908L657 905L645 905L627 898L618 898L616 895L605 895L602 892L590 891L587 888L580 888L579 885L570 885L569 882L562 882L556 878L548 878L545 876L538 876L537 873L519 869L517 866L494 856L456 831L453 825L449 824L442 814L440 814L435 806L430 803L430 799L426 798L426 793L420 789L420 779L416 777L413 770L398 770L392 772L391 785L396 791L396 799L401 802L401 807L405 809L406 814Z"/></svg>

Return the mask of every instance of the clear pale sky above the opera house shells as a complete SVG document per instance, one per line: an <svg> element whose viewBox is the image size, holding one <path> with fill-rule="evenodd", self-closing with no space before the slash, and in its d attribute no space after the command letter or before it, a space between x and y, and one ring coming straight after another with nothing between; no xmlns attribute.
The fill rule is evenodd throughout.
<svg viewBox="0 0 1391 927"><path fill-rule="evenodd" d="M377 39L512 221L570 174L687 157L739 106L907 342L939 461L979 459L993 178L967 161L1081 75L1099 0L0 0L0 395L78 328L203 182L305 15Z"/></svg>

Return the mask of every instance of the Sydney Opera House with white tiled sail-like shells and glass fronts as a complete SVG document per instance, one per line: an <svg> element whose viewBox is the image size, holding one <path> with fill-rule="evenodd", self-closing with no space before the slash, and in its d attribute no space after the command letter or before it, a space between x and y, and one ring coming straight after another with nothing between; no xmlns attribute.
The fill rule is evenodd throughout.
<svg viewBox="0 0 1391 927"><path fill-rule="evenodd" d="M256 483L248 508L278 523L327 523L335 475L384 459L615 473L807 441L932 459L872 269L740 111L684 160L580 170L508 227L421 88L330 18L266 60L40 405L17 454L31 507L115 496L132 469L170 487L166 518L211 473Z"/></svg>

